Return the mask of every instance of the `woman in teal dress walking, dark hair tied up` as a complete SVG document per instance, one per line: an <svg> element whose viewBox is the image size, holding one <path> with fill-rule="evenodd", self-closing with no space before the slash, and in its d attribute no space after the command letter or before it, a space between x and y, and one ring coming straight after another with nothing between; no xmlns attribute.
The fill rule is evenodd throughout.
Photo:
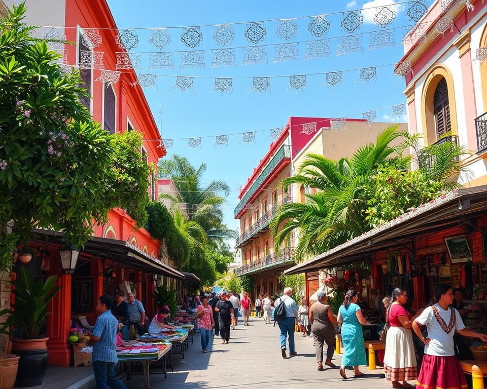
<svg viewBox="0 0 487 389"><path fill-rule="evenodd" d="M354 367L354 377L364 375L359 371L359 365L365 365L365 346L362 324L367 323L362 316L362 310L357 305L357 291L349 290L345 294L343 305L338 310L338 323L341 323L341 341L345 352L341 359L340 375L346 379L345 366Z"/></svg>

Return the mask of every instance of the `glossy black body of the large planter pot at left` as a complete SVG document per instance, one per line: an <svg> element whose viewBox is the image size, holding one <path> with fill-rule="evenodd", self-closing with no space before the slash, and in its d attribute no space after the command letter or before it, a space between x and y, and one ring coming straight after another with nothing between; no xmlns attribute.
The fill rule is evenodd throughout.
<svg viewBox="0 0 487 389"><path fill-rule="evenodd" d="M46 340L44 340L44 347L46 347ZM25 342L25 340L21 342ZM28 347L24 347L23 344L19 344L20 347L16 346L17 344L14 342L13 352L20 357L15 386L29 387L42 385L49 362L47 348L38 347L37 349L30 350L26 349Z"/></svg>

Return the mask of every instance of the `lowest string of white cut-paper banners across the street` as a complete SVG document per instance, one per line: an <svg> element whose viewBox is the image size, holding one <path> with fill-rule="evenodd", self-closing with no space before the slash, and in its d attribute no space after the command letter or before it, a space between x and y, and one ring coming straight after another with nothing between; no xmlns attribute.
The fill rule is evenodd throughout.
<svg viewBox="0 0 487 389"><path fill-rule="evenodd" d="M362 119L367 121L369 125L376 121L377 119L377 111L383 111L383 110L390 110L391 112L391 119L393 120L402 120L403 116L406 114L406 104L397 104L397 105L392 105L389 107L383 107L379 108L376 110L372 111L367 111L367 112L362 112L358 114L353 114L353 115L348 115L347 117L350 118L351 116L361 116ZM330 128L325 128L326 130L334 130L336 132L340 130L345 130L346 129L346 118L335 118L331 120L331 127ZM304 123L304 124L299 124L295 125L297 127L302 127L302 130L300 131L299 135L301 134L306 134L306 135L311 135L315 133L316 131L320 130L317 128L318 122L309 122L309 123ZM186 141L186 147L201 147L202 146L202 139L203 138L214 138L215 141L213 143L213 146L228 146L228 140L230 136L241 136L240 143L254 143L255 138L256 138L256 133L258 132L268 132L269 137L267 139L277 139L282 132L284 131L284 127L277 127L277 128L272 128L269 130L259 130L259 131L249 131L249 132L243 132L243 133L233 133L233 134L223 134L223 135L215 135L215 136L200 136L200 137L194 137L194 138L171 138L171 139L163 139L162 143L164 144L164 147L166 149L172 148L174 146L175 140L181 140L181 141ZM146 141L152 140L152 139L145 139ZM157 139L153 139L154 141L159 141Z"/></svg>

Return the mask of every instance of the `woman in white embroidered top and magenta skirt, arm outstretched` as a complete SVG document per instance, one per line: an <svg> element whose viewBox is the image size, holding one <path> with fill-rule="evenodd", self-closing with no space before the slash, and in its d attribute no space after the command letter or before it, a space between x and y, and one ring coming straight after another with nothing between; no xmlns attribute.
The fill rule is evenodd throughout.
<svg viewBox="0 0 487 389"><path fill-rule="evenodd" d="M435 298L438 301L427 307L412 324L412 329L425 343L425 356L421 365L416 389L448 388L466 389L465 374L455 356L453 335L455 331L463 336L487 341L487 335L465 328L458 310L449 307L453 303L453 289L449 285L437 285ZM428 329L428 337L421 333L421 327Z"/></svg>

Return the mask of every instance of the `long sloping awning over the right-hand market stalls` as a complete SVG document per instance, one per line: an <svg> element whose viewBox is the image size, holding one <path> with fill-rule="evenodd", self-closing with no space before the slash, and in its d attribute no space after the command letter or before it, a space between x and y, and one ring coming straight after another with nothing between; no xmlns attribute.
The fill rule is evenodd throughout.
<svg viewBox="0 0 487 389"><path fill-rule="evenodd" d="M299 274L365 259L373 252L410 247L411 239L469 223L468 218L487 213L487 185L455 189L388 221L316 257L293 266L284 274ZM474 226L475 227L475 226Z"/></svg>

